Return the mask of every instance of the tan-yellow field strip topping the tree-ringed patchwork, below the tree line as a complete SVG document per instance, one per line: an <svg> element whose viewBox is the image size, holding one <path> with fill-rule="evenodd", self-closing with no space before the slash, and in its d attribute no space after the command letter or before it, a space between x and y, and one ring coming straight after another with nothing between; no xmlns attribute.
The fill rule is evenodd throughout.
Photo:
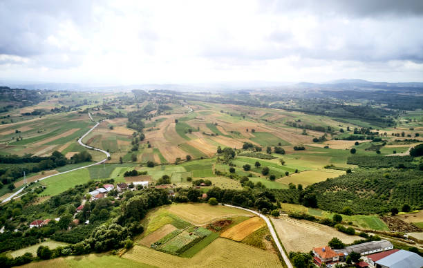
<svg viewBox="0 0 423 268"><path fill-rule="evenodd" d="M252 216L253 214L241 209L209 204L172 204L167 207L170 213L179 216L187 222L206 224L218 218L229 216Z"/></svg>

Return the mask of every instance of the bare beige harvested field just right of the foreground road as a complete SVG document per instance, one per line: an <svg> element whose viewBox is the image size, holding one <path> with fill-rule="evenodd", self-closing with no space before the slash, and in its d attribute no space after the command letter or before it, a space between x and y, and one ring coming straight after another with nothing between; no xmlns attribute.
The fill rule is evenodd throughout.
<svg viewBox="0 0 423 268"><path fill-rule="evenodd" d="M339 238L344 243L359 240L358 236L348 236L332 227L307 220L295 220L287 216L272 218L276 232L286 251L309 252L313 247L328 245L329 240Z"/></svg>

